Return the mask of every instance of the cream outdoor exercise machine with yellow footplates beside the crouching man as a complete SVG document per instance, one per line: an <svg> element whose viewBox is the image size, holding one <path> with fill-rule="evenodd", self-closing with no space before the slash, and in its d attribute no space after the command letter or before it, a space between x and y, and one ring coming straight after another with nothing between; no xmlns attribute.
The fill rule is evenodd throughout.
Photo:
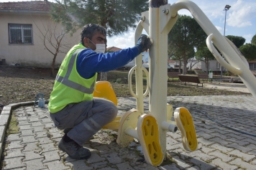
<svg viewBox="0 0 256 170"><path fill-rule="evenodd" d="M160 165L166 155L166 132L180 129L183 147L186 151L195 151L198 147L196 130L191 113L186 108L174 110L167 105L167 79L168 67L168 33L178 19L178 10L188 9L196 22L208 35L206 44L216 60L230 72L239 75L241 80L256 98L256 78L249 70L249 65L239 50L227 38L223 37L218 29L210 22L201 9L192 1L180 0L175 4L167 4L167 0L150 0L149 11L142 12L141 21L137 25L134 42L145 29L152 39L150 47L149 72L142 67L142 55L135 58L135 66L129 71L129 90L137 100L137 109L129 110L116 118L119 123L118 138L120 146L129 146L133 138L137 138L141 145L148 164ZM227 62L219 55L211 42L214 42ZM143 93L142 72L147 76L147 90ZM132 91L132 73L135 72L136 93ZM149 93L149 113L144 113L143 98ZM114 126L113 126L114 127ZM116 126L115 126L116 128Z"/></svg>

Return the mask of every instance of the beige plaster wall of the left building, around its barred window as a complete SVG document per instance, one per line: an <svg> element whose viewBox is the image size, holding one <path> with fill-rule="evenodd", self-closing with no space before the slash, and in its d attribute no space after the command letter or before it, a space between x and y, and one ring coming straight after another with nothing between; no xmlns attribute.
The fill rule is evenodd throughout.
<svg viewBox="0 0 256 170"><path fill-rule="evenodd" d="M40 37L40 30L45 32L44 26L52 21L48 14L35 14L27 12L0 12L0 60L5 59L7 65L19 63L22 66L33 67L51 67L53 55L45 49ZM9 28L8 24L32 24L33 44L9 44ZM40 27L38 29L36 25ZM55 35L60 34L62 27L59 25ZM80 41L80 31L70 37L68 34L64 37L62 44L66 44L68 48L73 47ZM52 47L47 45L50 49ZM54 51L54 50L53 50ZM56 66L63 61L65 54L58 53L56 58Z"/></svg>

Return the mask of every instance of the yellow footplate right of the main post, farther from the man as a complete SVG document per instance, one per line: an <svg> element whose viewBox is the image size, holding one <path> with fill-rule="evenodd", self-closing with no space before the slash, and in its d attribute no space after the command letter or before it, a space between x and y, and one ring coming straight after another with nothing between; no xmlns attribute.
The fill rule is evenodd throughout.
<svg viewBox="0 0 256 170"><path fill-rule="evenodd" d="M174 119L181 132L183 147L186 151L196 151L198 143L191 113L186 108L176 108Z"/></svg>

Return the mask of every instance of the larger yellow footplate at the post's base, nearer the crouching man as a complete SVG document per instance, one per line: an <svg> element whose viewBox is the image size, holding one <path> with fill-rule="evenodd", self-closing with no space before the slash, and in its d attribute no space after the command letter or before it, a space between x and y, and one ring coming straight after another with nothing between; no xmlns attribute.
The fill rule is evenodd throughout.
<svg viewBox="0 0 256 170"><path fill-rule="evenodd" d="M153 166L160 165L164 156L156 119L150 114L141 115L137 123L137 133L147 163Z"/></svg>

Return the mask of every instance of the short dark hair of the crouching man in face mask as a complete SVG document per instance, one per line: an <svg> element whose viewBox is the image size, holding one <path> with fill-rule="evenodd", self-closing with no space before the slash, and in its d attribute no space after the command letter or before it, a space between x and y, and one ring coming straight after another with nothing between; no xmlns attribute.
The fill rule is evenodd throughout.
<svg viewBox="0 0 256 170"><path fill-rule="evenodd" d="M106 29L104 27L97 24L86 24L81 32L81 43L83 44L84 37L91 39L96 32L100 32L106 37Z"/></svg>

